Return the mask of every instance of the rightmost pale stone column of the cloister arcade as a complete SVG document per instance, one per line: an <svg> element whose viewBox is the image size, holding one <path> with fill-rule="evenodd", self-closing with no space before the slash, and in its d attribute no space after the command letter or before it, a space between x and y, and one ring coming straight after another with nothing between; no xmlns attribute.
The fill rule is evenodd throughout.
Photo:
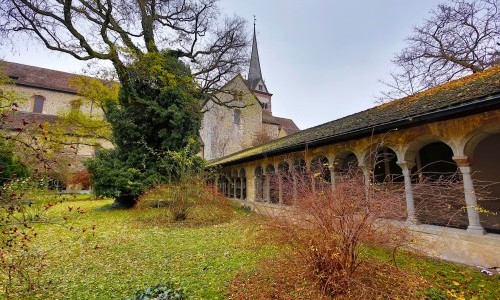
<svg viewBox="0 0 500 300"><path fill-rule="evenodd" d="M470 174L470 163L467 156L453 156L453 160L457 163L460 172L462 173L462 181L464 184L465 204L467 206L467 218L469 226L467 231L474 234L485 234L483 226L479 221L479 213L477 212L477 199L474 192L474 184Z"/></svg>

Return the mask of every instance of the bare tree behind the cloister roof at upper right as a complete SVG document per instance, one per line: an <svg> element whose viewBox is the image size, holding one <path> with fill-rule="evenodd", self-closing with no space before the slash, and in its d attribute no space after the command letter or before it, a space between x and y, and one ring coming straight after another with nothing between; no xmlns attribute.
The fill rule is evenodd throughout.
<svg viewBox="0 0 500 300"><path fill-rule="evenodd" d="M393 59L397 71L382 81L388 90L380 100L394 100L480 72L500 62L498 0L452 0L431 16L406 41Z"/></svg>

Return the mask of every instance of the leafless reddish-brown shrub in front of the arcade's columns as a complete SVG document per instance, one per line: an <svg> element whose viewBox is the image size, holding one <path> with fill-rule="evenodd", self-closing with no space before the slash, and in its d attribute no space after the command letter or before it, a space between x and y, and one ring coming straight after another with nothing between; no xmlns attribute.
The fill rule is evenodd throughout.
<svg viewBox="0 0 500 300"><path fill-rule="evenodd" d="M314 172L312 174L315 174ZM361 172L352 171L331 184L311 188L311 175L281 184L292 190L295 205L275 214L271 229L290 242L308 274L327 295L345 294L353 284L363 289L366 276L361 246L373 245L395 251L408 244L409 231L402 225L404 193L390 184L365 185ZM314 175L312 175L314 176ZM403 212L403 213L402 213ZM371 276L371 275L370 275Z"/></svg>

